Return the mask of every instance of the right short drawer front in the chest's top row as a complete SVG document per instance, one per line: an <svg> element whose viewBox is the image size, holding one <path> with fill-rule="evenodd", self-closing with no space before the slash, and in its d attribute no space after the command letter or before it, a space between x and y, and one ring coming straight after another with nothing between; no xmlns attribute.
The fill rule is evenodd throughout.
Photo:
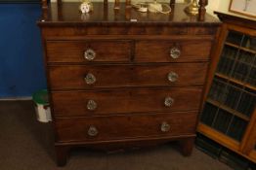
<svg viewBox="0 0 256 170"><path fill-rule="evenodd" d="M137 62L191 62L209 59L210 41L139 41L136 43Z"/></svg>

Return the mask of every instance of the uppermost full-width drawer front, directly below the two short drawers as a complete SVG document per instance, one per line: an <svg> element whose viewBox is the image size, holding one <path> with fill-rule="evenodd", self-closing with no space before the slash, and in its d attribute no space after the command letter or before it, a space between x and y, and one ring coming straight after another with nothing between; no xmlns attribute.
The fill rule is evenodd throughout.
<svg viewBox="0 0 256 170"><path fill-rule="evenodd" d="M140 85L203 85L207 63L151 66L51 66L52 89L84 89ZM93 80L92 80L93 79Z"/></svg>

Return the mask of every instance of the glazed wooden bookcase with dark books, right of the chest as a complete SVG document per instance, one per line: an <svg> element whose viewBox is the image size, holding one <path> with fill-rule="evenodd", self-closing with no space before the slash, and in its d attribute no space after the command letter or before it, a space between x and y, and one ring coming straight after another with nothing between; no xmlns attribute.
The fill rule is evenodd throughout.
<svg viewBox="0 0 256 170"><path fill-rule="evenodd" d="M256 162L256 21L217 15L224 24L198 131Z"/></svg>

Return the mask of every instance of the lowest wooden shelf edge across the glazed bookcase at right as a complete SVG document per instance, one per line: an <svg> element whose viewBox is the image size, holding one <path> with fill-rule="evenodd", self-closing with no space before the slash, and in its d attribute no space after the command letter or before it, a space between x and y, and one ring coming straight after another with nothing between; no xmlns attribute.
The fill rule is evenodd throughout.
<svg viewBox="0 0 256 170"><path fill-rule="evenodd" d="M221 109L223 109L223 110L225 110L225 111L231 113L232 115L235 115L236 117L238 117L238 118L240 118L240 119L243 119L243 120L246 120L246 121L249 121L249 120L250 120L250 118L248 118L248 117L244 116L243 114L241 114L241 113L235 111L234 109L232 109L232 108L230 108L230 107L228 107L228 106L222 104L221 102L212 100L212 99L210 99L210 98L208 98L208 99L206 100L206 102L208 102L208 103L210 103L210 104L212 104L212 105L214 105L214 106L216 106L216 107L218 107L218 108L221 108Z"/></svg>

